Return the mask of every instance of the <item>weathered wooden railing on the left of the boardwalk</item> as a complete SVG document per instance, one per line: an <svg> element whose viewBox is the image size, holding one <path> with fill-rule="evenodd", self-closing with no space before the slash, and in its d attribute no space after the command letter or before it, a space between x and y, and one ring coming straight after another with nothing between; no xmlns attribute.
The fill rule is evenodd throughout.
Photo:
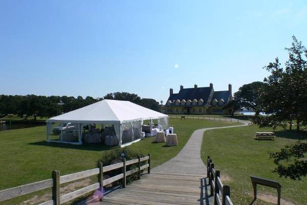
<svg viewBox="0 0 307 205"><path fill-rule="evenodd" d="M146 161L145 165L141 166L142 161ZM128 165L133 165L137 163L138 168L126 171L126 167ZM122 169L122 173L118 174L116 176L113 176L108 179L103 180L103 173L116 170L116 169ZM123 162L116 163L114 165L109 165L103 167L102 163L98 163L98 168L92 169L92 170L86 170L82 172L77 172L73 174L68 174L68 175L63 175L60 176L60 172L55 170L52 172L52 178L51 179L46 179L42 181L37 181L33 183L29 183L28 185L22 185L19 187L14 187L6 190L0 191L0 201L12 199L18 196L22 196L25 194L29 194L32 192L36 192L39 190L47 189L47 188L52 188L52 200L40 203L40 205L58 205L61 203L65 203L67 201L70 201L72 199L75 199L79 196L82 196L84 194L87 194L89 192L95 191L99 188L103 188L103 186L109 185L110 183L113 183L114 181L117 180L122 180L122 187L126 187L126 177L138 172L138 178L140 179L141 177L141 171L146 169L148 170L148 174L150 173L150 154L145 157L138 157L137 159L131 159L126 161L126 159L123 159ZM68 194L60 195L60 185L63 183L71 182L74 180L82 179L85 177L90 177L93 175L98 175L98 182L94 183L93 185L84 187L82 189L73 191Z"/></svg>

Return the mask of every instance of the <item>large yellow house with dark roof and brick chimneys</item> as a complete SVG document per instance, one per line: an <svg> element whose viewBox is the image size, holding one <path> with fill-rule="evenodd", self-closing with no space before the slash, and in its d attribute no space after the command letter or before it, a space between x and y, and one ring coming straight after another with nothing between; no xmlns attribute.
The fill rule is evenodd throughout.
<svg viewBox="0 0 307 205"><path fill-rule="evenodd" d="M201 88L197 85L194 85L194 88L180 86L179 93L173 93L173 89L169 89L164 109L167 114L230 114L231 109L223 109L230 100L231 84L225 91L214 91L212 83L209 87Z"/></svg>

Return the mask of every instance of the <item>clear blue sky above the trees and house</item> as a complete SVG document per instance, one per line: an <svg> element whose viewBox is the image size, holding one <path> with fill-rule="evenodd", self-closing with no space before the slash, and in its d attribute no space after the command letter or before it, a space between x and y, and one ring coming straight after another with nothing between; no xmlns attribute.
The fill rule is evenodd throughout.
<svg viewBox="0 0 307 205"><path fill-rule="evenodd" d="M0 94L166 102L194 84L233 92L269 73L307 1L0 1Z"/></svg>

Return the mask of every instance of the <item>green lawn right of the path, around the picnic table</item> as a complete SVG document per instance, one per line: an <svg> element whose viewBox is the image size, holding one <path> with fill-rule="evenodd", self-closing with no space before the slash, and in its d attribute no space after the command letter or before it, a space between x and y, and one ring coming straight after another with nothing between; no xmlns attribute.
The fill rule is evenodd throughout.
<svg viewBox="0 0 307 205"><path fill-rule="evenodd" d="M253 188L249 175L277 180L281 183L281 196L295 204L306 204L307 177L302 180L280 178L273 172L276 167L269 159L268 151L279 151L280 148L294 144L302 139L300 134L277 130L275 140L255 140L255 132L272 131L259 129L257 126L238 127L221 130L209 130L204 133L202 159L207 161L211 156L216 169L227 175L231 199L234 204L249 204L252 201ZM222 180L223 181L223 180ZM258 192L277 195L271 188L258 186ZM256 204L256 203L255 203ZM271 204L258 201L257 204Z"/></svg>

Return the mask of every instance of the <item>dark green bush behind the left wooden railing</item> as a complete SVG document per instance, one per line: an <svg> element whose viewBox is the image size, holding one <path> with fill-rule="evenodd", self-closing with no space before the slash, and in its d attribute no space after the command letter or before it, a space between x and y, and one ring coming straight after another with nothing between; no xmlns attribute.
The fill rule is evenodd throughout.
<svg viewBox="0 0 307 205"><path fill-rule="evenodd" d="M113 165L115 163L122 162L123 158L126 158L126 160L131 160L131 159L136 159L139 156L144 157L144 154L136 152L136 151L134 151L130 148L127 148L127 147L116 148L116 149L113 149L111 151L104 153L101 156L101 158L97 161L97 163L102 162L103 167L104 167L104 166ZM145 165L145 162L146 161L142 161L141 166ZM126 171L136 169L136 168L138 168L137 163L135 163L133 165L126 166ZM122 173L121 168L106 172L106 173L104 173L104 179L106 179L108 177L116 176L116 175L121 174L121 173ZM138 173L134 173L134 174L127 176L126 182L130 183L131 181L136 180L136 179L138 179ZM121 183L120 181L114 182L112 186L119 185L120 183Z"/></svg>

